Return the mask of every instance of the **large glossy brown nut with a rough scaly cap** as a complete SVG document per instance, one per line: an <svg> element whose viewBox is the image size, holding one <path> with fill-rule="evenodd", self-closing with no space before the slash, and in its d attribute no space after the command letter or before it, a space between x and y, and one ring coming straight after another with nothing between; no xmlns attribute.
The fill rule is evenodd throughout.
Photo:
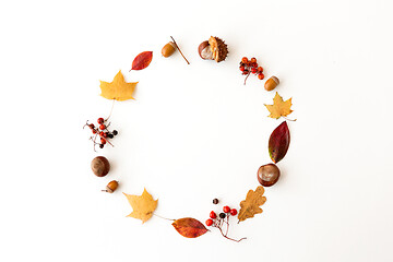
<svg viewBox="0 0 393 262"><path fill-rule="evenodd" d="M228 56L228 46L221 38L211 36L209 40L199 45L198 52L202 59L221 62Z"/></svg>

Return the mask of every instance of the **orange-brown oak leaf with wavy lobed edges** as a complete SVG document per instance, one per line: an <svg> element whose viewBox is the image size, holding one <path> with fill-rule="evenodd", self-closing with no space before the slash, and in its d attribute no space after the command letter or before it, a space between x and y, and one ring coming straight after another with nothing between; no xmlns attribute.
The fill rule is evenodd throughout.
<svg viewBox="0 0 393 262"><path fill-rule="evenodd" d="M249 190L246 200L240 202L239 222L251 218L257 214L262 213L262 209L259 207L266 202L266 198L263 196L264 189L259 186L255 191Z"/></svg>

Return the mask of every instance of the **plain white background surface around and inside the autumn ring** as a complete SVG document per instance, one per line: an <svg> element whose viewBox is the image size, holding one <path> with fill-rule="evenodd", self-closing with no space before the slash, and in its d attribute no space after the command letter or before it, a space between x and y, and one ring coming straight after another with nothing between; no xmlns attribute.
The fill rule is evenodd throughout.
<svg viewBox="0 0 393 262"><path fill-rule="evenodd" d="M357 1L3 1L0 4L2 261L393 261L392 8ZM160 56L174 36L177 52ZM209 37L229 56L199 58ZM151 66L128 72L141 51ZM291 142L264 212L196 239L141 225L121 192L145 187L156 213L204 222L238 207L270 163L274 92L238 70L255 57L293 97ZM99 80L140 81L116 103L119 131L95 153L86 120L111 102ZM90 163L105 155L107 177ZM112 179L114 194L100 192Z"/></svg>

